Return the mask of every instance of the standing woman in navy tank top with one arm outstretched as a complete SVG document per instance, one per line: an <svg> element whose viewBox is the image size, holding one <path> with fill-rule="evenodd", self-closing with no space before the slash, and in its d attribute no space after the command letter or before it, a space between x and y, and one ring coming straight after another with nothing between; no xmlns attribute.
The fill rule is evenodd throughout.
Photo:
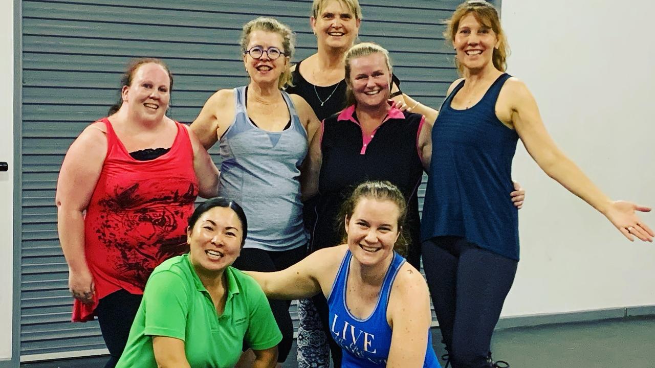
<svg viewBox="0 0 655 368"><path fill-rule="evenodd" d="M506 37L492 5L460 5L446 39L463 78L450 86L432 130L423 264L453 367L494 367L491 334L519 259L517 212L506 199L518 139L626 238L652 241L655 233L635 213L650 208L610 200L553 143L525 84L504 73Z"/></svg>

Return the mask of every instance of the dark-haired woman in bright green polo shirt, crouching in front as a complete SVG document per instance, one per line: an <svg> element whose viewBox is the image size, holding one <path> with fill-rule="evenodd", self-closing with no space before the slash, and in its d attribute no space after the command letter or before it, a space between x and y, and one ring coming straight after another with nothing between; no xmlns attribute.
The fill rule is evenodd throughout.
<svg viewBox="0 0 655 368"><path fill-rule="evenodd" d="M120 367L233 367L244 342L255 367L274 367L282 334L261 288L230 267L248 233L242 208L224 198L189 218L189 254L153 271Z"/></svg>

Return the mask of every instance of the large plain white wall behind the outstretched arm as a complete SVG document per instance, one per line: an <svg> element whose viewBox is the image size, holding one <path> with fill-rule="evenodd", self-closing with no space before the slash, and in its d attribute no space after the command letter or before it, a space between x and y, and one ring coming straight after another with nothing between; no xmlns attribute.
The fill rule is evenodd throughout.
<svg viewBox="0 0 655 368"><path fill-rule="evenodd" d="M508 72L559 147L614 199L655 206L655 2L502 0ZM504 316L655 305L655 245L627 241L519 143L521 262ZM655 214L641 215L655 229Z"/></svg>

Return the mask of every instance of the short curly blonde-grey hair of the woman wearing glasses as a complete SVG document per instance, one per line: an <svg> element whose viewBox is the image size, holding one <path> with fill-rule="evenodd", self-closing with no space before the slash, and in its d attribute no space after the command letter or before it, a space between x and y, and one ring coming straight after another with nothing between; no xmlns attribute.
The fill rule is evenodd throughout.
<svg viewBox="0 0 655 368"><path fill-rule="evenodd" d="M284 55L291 60L293 58L293 52L295 52L295 33L291 31L291 28L286 24L266 16L259 16L250 22L244 24L244 28L241 31L241 39L239 43L241 44L241 53L246 53L246 48L250 43L250 33L253 31L265 31L278 33L282 36L282 48L284 48ZM286 69L280 75L278 79L278 88L281 90L287 86L292 86L291 80L293 79L291 75L291 63L287 64Z"/></svg>

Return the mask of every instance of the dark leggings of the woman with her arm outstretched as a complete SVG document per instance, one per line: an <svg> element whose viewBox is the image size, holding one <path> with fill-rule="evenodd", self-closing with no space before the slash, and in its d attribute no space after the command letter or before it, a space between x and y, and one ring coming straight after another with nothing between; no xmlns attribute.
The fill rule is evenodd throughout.
<svg viewBox="0 0 655 368"><path fill-rule="evenodd" d="M518 261L457 236L422 244L423 268L453 368L487 368L491 335Z"/></svg>

